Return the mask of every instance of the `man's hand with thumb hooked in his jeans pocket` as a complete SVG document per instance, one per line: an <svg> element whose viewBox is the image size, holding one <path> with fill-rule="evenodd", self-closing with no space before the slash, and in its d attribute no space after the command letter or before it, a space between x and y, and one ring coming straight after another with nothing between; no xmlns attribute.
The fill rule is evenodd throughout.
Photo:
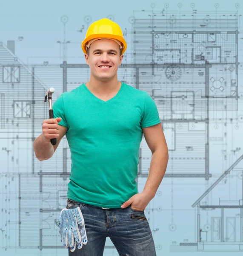
<svg viewBox="0 0 243 256"><path fill-rule="evenodd" d="M137 211L144 211L151 199L152 198L150 195L146 194L145 192L141 192L129 198L129 200L123 204L124 207L122 207L122 205L121 208L125 209L131 204L132 209Z"/></svg>

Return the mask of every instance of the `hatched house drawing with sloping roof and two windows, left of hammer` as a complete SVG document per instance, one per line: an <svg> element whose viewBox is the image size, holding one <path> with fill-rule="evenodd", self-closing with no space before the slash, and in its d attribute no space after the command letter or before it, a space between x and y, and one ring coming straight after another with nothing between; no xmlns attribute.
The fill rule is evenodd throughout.
<svg viewBox="0 0 243 256"><path fill-rule="evenodd" d="M42 122L47 113L44 96L48 86L37 76L36 67L20 61L9 41L8 45L0 41L0 87L0 129L13 133L22 129L34 138L34 120Z"/></svg>

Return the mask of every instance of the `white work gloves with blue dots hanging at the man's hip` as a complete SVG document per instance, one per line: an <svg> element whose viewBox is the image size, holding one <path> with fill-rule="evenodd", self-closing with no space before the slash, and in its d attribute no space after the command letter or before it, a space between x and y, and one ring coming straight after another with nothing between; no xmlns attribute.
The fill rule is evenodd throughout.
<svg viewBox="0 0 243 256"><path fill-rule="evenodd" d="M80 249L83 244L87 244L83 214L79 207L62 209L59 233L65 249L70 247L71 252L75 250L76 245Z"/></svg>

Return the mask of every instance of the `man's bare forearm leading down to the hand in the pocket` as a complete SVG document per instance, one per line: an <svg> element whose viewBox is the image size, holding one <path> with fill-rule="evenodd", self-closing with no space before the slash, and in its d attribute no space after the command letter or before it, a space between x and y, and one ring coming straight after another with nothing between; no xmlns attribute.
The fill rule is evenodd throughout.
<svg viewBox="0 0 243 256"><path fill-rule="evenodd" d="M152 154L149 175L143 189L143 193L146 193L151 199L154 198L165 175L168 160L168 151L156 150Z"/></svg>

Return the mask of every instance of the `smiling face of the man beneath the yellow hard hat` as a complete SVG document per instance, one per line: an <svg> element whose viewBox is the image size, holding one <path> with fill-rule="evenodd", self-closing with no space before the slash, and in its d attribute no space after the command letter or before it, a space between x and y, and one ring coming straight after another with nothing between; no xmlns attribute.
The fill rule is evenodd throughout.
<svg viewBox="0 0 243 256"><path fill-rule="evenodd" d="M90 76L98 81L109 81L117 76L123 55L120 46L110 39L99 39L90 44L86 63L90 67Z"/></svg>

